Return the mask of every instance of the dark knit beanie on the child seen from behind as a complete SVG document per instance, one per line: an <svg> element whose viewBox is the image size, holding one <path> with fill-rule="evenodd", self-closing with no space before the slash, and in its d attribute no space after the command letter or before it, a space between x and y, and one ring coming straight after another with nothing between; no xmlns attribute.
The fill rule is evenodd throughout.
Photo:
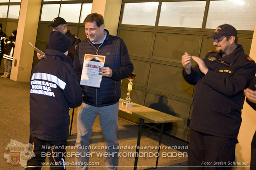
<svg viewBox="0 0 256 170"><path fill-rule="evenodd" d="M66 52L71 47L71 40L59 31L51 31L49 35L49 49Z"/></svg>

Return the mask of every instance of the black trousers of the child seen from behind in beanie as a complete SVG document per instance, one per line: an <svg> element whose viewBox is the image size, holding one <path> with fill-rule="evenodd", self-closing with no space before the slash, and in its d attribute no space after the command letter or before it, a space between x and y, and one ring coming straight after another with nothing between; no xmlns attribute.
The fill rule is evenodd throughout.
<svg viewBox="0 0 256 170"><path fill-rule="evenodd" d="M30 143L33 144L35 157L27 161L25 170L40 170L45 163L45 158L49 157L50 170L65 170L65 147L67 140L64 141L43 141L30 136ZM48 152L48 153L47 153Z"/></svg>

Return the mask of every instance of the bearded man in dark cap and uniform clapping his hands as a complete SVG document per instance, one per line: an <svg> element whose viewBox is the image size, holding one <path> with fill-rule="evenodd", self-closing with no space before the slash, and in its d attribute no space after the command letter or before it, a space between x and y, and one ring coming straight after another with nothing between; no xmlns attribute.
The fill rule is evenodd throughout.
<svg viewBox="0 0 256 170"><path fill-rule="evenodd" d="M216 51L204 59L185 52L182 75L194 91L189 142L189 169L227 169L235 158L241 125L244 88L256 72L256 64L237 44L237 30L228 24L218 26L213 38ZM197 62L191 67L191 58Z"/></svg>

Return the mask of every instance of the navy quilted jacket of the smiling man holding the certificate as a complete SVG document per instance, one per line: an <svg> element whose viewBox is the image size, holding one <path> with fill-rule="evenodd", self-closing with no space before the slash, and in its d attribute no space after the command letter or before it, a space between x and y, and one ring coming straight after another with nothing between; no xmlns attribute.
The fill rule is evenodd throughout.
<svg viewBox="0 0 256 170"><path fill-rule="evenodd" d="M117 36L109 35L104 42L98 47L87 38L76 48L74 60L74 71L80 82L82 67L84 63L84 54L94 54L106 56L104 67L112 69L112 77L102 77L100 88L82 86L83 102L92 106L108 106L117 103L121 96L121 79L127 78L133 71L127 47L124 41Z"/></svg>

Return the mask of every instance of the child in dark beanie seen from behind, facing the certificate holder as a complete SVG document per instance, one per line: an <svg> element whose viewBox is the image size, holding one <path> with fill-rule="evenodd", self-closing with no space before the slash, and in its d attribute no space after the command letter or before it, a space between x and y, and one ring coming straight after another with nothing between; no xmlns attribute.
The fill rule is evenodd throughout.
<svg viewBox="0 0 256 170"><path fill-rule="evenodd" d="M25 170L41 169L47 152L52 163L50 169L65 169L69 108L82 103L82 89L67 57L71 44L71 40L61 32L50 32L45 58L32 72L30 143L35 156L27 161Z"/></svg>

